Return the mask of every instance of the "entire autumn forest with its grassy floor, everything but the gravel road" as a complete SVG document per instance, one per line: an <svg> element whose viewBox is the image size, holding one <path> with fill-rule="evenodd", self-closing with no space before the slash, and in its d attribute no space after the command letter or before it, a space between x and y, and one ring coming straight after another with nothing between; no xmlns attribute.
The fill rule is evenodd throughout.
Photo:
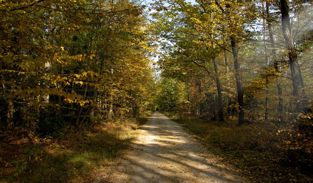
<svg viewBox="0 0 313 183"><path fill-rule="evenodd" d="M0 1L0 182L90 182L160 111L251 182L311 182L313 1Z"/></svg>

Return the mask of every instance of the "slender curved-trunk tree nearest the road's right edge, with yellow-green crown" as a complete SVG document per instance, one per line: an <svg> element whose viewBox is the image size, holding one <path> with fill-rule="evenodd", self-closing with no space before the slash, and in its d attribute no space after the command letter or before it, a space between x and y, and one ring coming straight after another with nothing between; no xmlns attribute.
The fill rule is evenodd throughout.
<svg viewBox="0 0 313 183"><path fill-rule="evenodd" d="M164 12L164 14L165 16L172 18L174 14L176 16L175 20L172 19L171 24L169 24L167 20L163 20L166 21L165 24L167 26L171 25L172 27L170 29L168 27L164 28L166 28L167 31L172 30L173 32L169 33L161 29L161 32L164 31L164 33L162 33L162 37L167 39L174 47L176 47L175 53L180 55L177 57L179 59L177 59L176 62L191 62L196 66L203 68L207 72L208 76L213 78L213 80L216 82L218 91L219 120L224 121L223 99L219 82L218 66L215 57L215 54L217 54L218 51L215 49L214 42L212 40L207 40L208 38L210 39L211 35L208 36L203 34L203 27L198 26L197 22L195 22L195 20L198 20L198 17L192 17L192 15L196 15L198 13L198 6L192 7L190 4L186 4L185 2L182 2L182 4L175 4L174 2L172 3L174 7L171 9L172 12L167 10ZM187 11L185 9L187 9ZM188 12L188 10L190 10L190 12ZM182 15L180 15L180 13ZM201 17L201 14L198 13L198 16ZM181 24L181 26L176 26L177 24ZM205 28L209 29L209 27ZM179 37L177 35L182 36ZM198 37L200 37L200 39ZM199 51L195 52L195 50L192 48L198 48ZM202 55L200 56L200 54ZM183 59L183 57L185 57L185 59ZM209 59L212 59L212 61ZM215 74L212 74L211 71L209 71L207 64L213 65Z"/></svg>

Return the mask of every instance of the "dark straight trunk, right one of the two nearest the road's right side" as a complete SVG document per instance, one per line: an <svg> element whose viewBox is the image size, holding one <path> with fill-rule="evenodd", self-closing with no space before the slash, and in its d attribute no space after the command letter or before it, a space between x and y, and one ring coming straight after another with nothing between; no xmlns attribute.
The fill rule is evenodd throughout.
<svg viewBox="0 0 313 183"><path fill-rule="evenodd" d="M239 62L238 62L238 52L236 49L236 41L233 36L230 36L230 43L232 46L234 69L236 77L237 95L238 95L238 125L244 124L244 93L242 91L242 85L240 80Z"/></svg>

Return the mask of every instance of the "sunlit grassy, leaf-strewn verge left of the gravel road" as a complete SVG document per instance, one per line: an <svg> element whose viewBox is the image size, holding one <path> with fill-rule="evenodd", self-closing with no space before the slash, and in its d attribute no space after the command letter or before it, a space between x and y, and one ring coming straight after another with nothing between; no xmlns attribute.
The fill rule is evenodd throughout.
<svg viewBox="0 0 313 183"><path fill-rule="evenodd" d="M64 139L42 139L27 130L1 133L0 182L89 182L127 152L147 115L101 123ZM25 167L26 165L26 167Z"/></svg>

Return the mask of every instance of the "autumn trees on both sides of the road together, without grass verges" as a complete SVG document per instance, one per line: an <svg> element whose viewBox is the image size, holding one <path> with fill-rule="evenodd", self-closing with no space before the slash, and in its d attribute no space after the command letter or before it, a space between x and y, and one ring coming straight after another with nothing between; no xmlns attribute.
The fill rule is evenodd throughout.
<svg viewBox="0 0 313 183"><path fill-rule="evenodd" d="M311 166L312 1L145 3L1 1L1 129L59 138L158 109L273 125Z"/></svg>

